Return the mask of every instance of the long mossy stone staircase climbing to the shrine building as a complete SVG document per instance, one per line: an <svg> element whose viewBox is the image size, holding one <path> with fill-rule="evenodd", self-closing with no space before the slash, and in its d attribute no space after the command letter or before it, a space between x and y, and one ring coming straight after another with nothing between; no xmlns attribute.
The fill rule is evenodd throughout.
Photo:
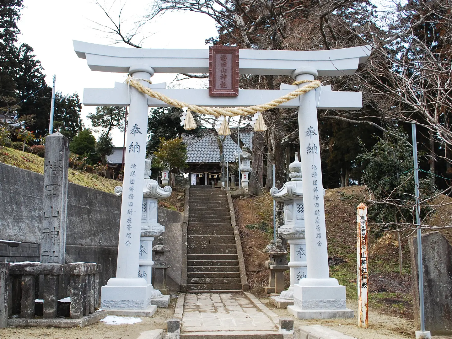
<svg viewBox="0 0 452 339"><path fill-rule="evenodd" d="M241 291L226 191L191 186L188 206L187 291Z"/></svg>

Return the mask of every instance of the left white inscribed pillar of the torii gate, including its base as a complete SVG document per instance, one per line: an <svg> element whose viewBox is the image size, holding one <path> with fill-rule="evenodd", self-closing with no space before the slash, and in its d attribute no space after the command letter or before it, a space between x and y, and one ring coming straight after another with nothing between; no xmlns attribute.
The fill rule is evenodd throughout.
<svg viewBox="0 0 452 339"><path fill-rule="evenodd" d="M148 86L145 80L154 70L135 65L129 74L144 79L141 84ZM155 312L150 304L152 285L138 278L148 112L147 95L131 88L116 278L110 278L101 293L101 307L109 313L120 310L120 314L151 316Z"/></svg>

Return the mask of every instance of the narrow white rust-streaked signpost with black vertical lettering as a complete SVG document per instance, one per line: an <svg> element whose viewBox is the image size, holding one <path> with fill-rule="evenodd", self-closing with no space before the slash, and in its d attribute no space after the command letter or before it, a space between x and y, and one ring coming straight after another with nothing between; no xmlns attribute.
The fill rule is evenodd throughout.
<svg viewBox="0 0 452 339"><path fill-rule="evenodd" d="M360 203L356 208L357 252L358 252L358 326L369 327L369 304L367 273L367 207Z"/></svg>

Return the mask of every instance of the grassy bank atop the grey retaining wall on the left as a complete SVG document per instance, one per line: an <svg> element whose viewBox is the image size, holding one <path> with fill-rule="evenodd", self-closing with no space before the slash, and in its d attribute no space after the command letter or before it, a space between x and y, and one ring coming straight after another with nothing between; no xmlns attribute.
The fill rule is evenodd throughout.
<svg viewBox="0 0 452 339"><path fill-rule="evenodd" d="M8 147L0 147L0 162L29 170L44 173L44 158L31 153L14 150ZM116 180L105 179L97 174L69 169L68 180L70 183L85 187L99 189L104 192L114 193L115 186L120 184Z"/></svg>

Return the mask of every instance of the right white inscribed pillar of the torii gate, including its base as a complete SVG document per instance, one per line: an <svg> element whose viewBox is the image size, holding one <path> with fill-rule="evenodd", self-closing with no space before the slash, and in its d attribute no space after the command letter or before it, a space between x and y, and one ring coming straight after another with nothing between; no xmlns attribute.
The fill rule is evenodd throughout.
<svg viewBox="0 0 452 339"><path fill-rule="evenodd" d="M293 71L295 80L314 80L315 69ZM302 87L306 84L300 84ZM330 278L326 244L325 206L323 201L320 142L315 91L300 96L298 108L301 173L305 213L307 278L294 285L294 305L287 310L298 319L352 318L345 304L345 286Z"/></svg>

